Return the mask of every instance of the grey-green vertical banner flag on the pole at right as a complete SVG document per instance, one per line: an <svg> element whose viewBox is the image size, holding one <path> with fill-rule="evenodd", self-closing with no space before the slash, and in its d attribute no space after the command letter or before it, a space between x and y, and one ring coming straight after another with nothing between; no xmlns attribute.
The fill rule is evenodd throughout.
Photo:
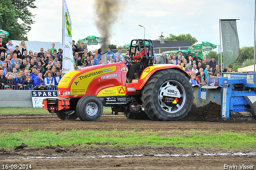
<svg viewBox="0 0 256 170"><path fill-rule="evenodd" d="M220 20L220 23L225 68L236 62L240 53L240 48L236 20Z"/></svg>

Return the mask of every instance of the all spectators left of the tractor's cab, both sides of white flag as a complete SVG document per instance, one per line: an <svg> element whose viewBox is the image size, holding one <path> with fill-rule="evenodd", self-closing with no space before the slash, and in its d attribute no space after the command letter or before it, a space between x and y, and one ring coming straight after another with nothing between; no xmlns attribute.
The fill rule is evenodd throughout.
<svg viewBox="0 0 256 170"><path fill-rule="evenodd" d="M58 82L62 78L62 49L54 48L44 50L40 48L40 52L32 52L25 41L20 44L12 44L9 40L7 44L2 42L0 38L0 90L32 90L57 89ZM74 56L74 67L88 67L102 64L99 50L94 53L84 48L84 43L80 43L78 48L75 41L72 41L72 50ZM108 63L126 62L122 55L122 49L119 48L115 54L111 48L108 48ZM129 55L129 51L126 55ZM131 53L134 55L134 51Z"/></svg>

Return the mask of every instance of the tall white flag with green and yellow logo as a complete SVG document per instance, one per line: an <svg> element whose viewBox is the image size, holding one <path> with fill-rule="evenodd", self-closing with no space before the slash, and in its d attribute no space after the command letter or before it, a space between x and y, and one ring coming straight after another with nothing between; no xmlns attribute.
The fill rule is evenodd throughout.
<svg viewBox="0 0 256 170"><path fill-rule="evenodd" d="M72 50L72 22L70 18L70 14L68 12L68 6L66 4L66 0L64 0L64 38L63 38L63 63L62 69L63 73L68 73L74 70L74 58L73 58L73 50Z"/></svg>

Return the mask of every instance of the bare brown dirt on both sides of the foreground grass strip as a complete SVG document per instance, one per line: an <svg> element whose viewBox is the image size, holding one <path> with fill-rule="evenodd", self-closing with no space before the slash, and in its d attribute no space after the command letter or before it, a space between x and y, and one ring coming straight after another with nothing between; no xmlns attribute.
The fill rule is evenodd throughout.
<svg viewBox="0 0 256 170"><path fill-rule="evenodd" d="M248 127L256 129L256 123L232 121L218 122L154 122L151 120L128 120L124 116L102 116L97 122L62 121L54 114L17 114L0 115L0 130L6 132L20 132L30 128L36 130L63 131L70 129L91 130L234 130L235 132L248 131ZM4 116L4 117L3 117ZM10 116L10 117L8 117ZM14 117L16 116L16 117ZM24 116L24 117L21 117ZM30 116L30 117L28 117ZM44 116L44 117L37 117ZM194 117L188 115L188 118ZM198 119L194 117L195 119ZM212 120L211 120L212 121ZM217 122L214 122L217 121ZM57 146L55 146L57 147ZM248 155L238 154L252 153ZM226 153L222 155L220 153ZM160 154L160 156L158 156ZM188 155L187 155L188 154ZM208 154L216 154L209 156ZM236 155L238 154L238 155ZM126 155L126 157L125 157ZM139 156L138 156L139 155ZM183 155L183 156L182 156ZM108 156L108 157L104 157ZM112 156L112 157L110 157ZM121 156L121 157L120 157ZM36 158L37 157L37 158ZM58 146L57 149L29 148L17 150L0 149L0 166L3 164L31 164L32 169L58 169L58 170L82 170L82 169L138 169L138 170L162 170L162 169L224 169L224 164L239 164L256 166L256 149L231 149L221 150L215 148L174 148L150 146L136 148L90 148L82 149L79 146ZM2 169L2 167L1 167ZM254 168L256 169L256 168Z"/></svg>

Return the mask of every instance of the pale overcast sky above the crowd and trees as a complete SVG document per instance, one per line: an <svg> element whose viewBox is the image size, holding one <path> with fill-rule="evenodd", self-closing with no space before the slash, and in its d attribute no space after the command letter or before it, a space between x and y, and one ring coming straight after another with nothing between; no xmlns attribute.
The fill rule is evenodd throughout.
<svg viewBox="0 0 256 170"><path fill-rule="evenodd" d="M118 1L118 0L117 0ZM121 2L121 1L118 1ZM66 0L72 20L72 39L102 36L96 27L94 0ZM62 0L36 0L36 14L29 41L62 42ZM254 46L254 0L126 0L112 6L118 14L112 19L110 43L117 46L132 39L158 39L169 34L191 34L198 41L220 44L219 19L237 20L240 48ZM119 10L118 10L119 9ZM93 46L93 49L100 46ZM92 49L88 46L88 49Z"/></svg>

